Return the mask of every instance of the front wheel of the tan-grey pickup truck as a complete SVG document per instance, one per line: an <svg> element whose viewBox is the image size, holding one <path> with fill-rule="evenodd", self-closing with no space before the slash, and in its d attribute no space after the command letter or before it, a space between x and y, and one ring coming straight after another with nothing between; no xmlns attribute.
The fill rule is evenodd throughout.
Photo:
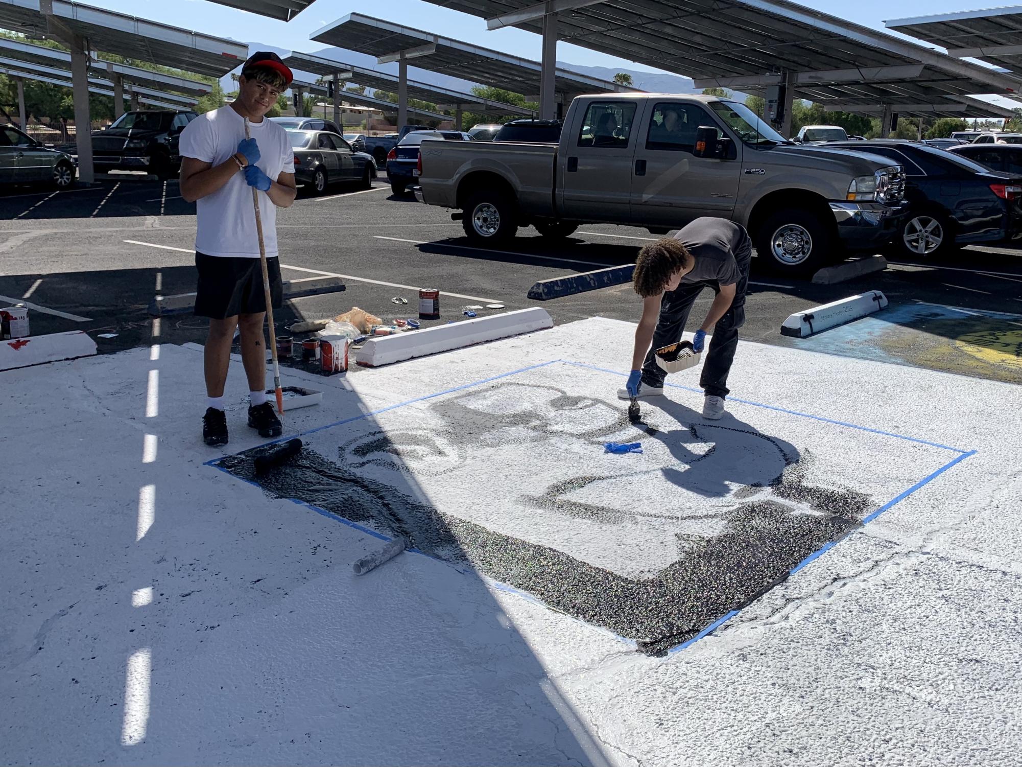
<svg viewBox="0 0 1022 767"><path fill-rule="evenodd" d="M775 274L808 275L833 255L833 236L805 210L772 214L755 235L758 266Z"/></svg>

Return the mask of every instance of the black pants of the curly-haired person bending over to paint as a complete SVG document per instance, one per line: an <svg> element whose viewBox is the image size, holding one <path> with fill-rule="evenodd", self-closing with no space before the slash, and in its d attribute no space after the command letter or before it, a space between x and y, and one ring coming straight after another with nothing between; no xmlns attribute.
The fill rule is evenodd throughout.
<svg viewBox="0 0 1022 767"><path fill-rule="evenodd" d="M735 359L735 350L738 349L738 328L745 323L745 292L749 286L749 264L752 259L752 241L748 235L734 256L740 273L738 284L735 285L735 300L713 326L713 337L710 339L709 350L703 359L702 375L699 376L699 386L709 397L727 397L731 391L728 389L728 373L731 372L731 363ZM683 282L678 289L663 295L660 319L653 331L653 346L646 354L646 361L642 366L644 385L663 386L667 373L656 364L654 351L681 341L692 305L704 287L713 288L714 294L721 292L721 285L716 280L704 280Z"/></svg>

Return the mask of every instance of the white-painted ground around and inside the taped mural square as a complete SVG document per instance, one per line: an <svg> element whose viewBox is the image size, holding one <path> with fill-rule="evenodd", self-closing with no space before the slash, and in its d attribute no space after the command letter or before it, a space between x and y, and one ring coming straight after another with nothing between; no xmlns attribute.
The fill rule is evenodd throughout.
<svg viewBox="0 0 1022 767"><path fill-rule="evenodd" d="M360 371L347 384L289 372L285 382L315 381L326 394L322 406L289 414L285 427L315 428L555 359L619 369L633 332L626 323L587 320ZM595 403L612 402L623 381L549 367L521 380L554 380L572 394L589 387L577 396ZM685 375L675 377L694 381L695 372ZM353 576L351 561L378 541L204 465L213 455L199 442L197 348L0 373L8 448L0 761L1019 763L1018 388L753 344L740 346L730 385L735 398L977 452L710 636L649 658L423 556L402 554ZM229 389L240 401L240 363ZM466 393L463 402L482 412L516 402L546 412L529 399L542 399L542 390L517 400ZM670 417L689 425L686 409L697 409L699 396L672 390L671 397L677 405L662 412L673 408ZM580 417L601 423L602 409L594 404ZM956 455L755 405L731 409L729 418L808 448L818 484L867 493L877 505ZM423 470L424 497L455 498L459 513L471 516L486 494L507 497L513 478L517 497L545 489L548 475L556 482L578 467L633 461L652 487L619 478L574 500L616 504L631 490L637 503L659 502L677 517L701 498L731 503L735 488L775 460L768 452L725 465L732 480L725 488L693 483L665 504L655 489L668 487L664 467L678 456L653 445L642 456L584 453L571 439L574 421L554 412L545 454L526 455L529 443L516 451L500 437L456 471ZM435 413L421 402L374 420L389 430L419 415L422 428ZM259 444L242 409L228 421L231 452ZM338 430L354 439L367 422L310 441L321 450L339 440ZM724 440L717 450L729 444L746 449ZM693 438L686 448L698 454L706 445ZM473 472L487 478L474 495ZM635 533L646 545L625 542L639 562L628 566L592 545L595 536L572 537L577 528L548 522L529 528L518 510L504 524L510 535L556 542L630 577L677 554L655 545L658 525L716 532L677 518L640 521Z"/></svg>

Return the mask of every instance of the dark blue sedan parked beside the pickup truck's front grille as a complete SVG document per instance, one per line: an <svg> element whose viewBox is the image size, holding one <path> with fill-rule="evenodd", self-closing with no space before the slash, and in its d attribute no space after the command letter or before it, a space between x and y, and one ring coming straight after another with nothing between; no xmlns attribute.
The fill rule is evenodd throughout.
<svg viewBox="0 0 1022 767"><path fill-rule="evenodd" d="M1022 237L1022 174L994 173L961 154L914 141L878 139L847 148L889 157L904 168L910 213L891 242L900 255L944 255L956 246Z"/></svg>

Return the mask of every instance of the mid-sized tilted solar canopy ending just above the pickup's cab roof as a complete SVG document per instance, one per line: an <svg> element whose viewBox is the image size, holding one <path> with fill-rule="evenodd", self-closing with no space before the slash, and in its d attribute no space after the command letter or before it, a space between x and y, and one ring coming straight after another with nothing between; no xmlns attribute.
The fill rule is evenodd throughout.
<svg viewBox="0 0 1022 767"><path fill-rule="evenodd" d="M554 59L546 56L548 53L546 51L545 62L541 64L520 56L512 56L361 13L349 13L314 32L310 39L377 56L378 63L398 61L400 81L407 82L407 62L414 60L414 65L420 69L503 88L521 93L530 99L537 98L539 94L543 101L543 96L546 94L546 101L549 101L549 104L546 107L541 105L541 115L544 116L546 116L545 108L552 111L555 93L561 95L564 102L567 102L579 93L636 90L570 70L555 67ZM549 81L547 83L544 82L544 73ZM399 91L399 101L400 97Z"/></svg>

